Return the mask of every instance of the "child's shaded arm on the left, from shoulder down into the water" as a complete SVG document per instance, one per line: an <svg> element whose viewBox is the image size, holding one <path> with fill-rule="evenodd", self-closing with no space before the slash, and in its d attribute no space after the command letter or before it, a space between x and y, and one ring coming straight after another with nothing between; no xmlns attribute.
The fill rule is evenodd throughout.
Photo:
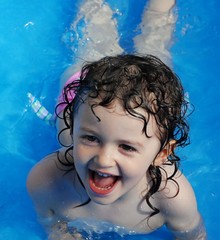
<svg viewBox="0 0 220 240"><path fill-rule="evenodd" d="M46 156L30 171L27 189L48 240L82 240L82 236L77 232L69 233L66 222L60 220L62 217L57 214L57 212L62 214L62 209L59 208L61 202L64 202L62 195L68 195L65 188L62 188L67 182L61 169L64 169L64 166L59 166L57 153ZM74 193L71 195L74 196Z"/></svg>

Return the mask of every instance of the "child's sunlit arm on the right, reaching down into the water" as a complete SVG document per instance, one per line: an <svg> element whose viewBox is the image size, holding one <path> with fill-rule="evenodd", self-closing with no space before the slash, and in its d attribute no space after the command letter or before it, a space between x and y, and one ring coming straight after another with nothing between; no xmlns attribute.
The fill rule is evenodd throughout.
<svg viewBox="0 0 220 240"><path fill-rule="evenodd" d="M169 175L169 167L165 170ZM173 181L168 181L164 190L159 193L160 210L164 214L165 223L176 240L205 240L206 229L200 213L194 191L180 172ZM175 196L176 195L176 196ZM163 200L161 200L163 199Z"/></svg>

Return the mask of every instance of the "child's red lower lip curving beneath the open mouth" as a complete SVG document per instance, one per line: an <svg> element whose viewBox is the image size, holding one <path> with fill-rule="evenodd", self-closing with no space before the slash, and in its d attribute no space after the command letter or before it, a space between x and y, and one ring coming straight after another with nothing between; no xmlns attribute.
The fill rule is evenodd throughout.
<svg viewBox="0 0 220 240"><path fill-rule="evenodd" d="M115 189L115 187L118 183L118 180L120 178L120 177L115 177L115 180L111 184L100 187L95 184L94 174L95 174L94 171L90 171L89 186L90 186L90 189L98 195L107 195L107 194L111 193Z"/></svg>

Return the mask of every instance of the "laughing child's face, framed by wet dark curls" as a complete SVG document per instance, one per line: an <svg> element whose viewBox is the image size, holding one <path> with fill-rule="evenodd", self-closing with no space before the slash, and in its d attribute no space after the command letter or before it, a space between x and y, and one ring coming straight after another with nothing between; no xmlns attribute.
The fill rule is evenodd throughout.
<svg viewBox="0 0 220 240"><path fill-rule="evenodd" d="M147 188L146 172L160 151L156 123L150 118L147 138L143 121L126 113L119 102L110 108L86 101L74 116L76 170L92 201L111 204ZM142 109L138 109L145 114Z"/></svg>

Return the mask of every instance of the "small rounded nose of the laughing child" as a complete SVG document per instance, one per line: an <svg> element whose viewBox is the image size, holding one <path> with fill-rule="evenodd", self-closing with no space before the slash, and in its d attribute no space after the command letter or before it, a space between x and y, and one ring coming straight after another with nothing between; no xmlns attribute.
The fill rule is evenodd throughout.
<svg viewBox="0 0 220 240"><path fill-rule="evenodd" d="M103 147L95 157L97 167L108 168L113 167L116 162L114 158L114 151L110 147Z"/></svg>

